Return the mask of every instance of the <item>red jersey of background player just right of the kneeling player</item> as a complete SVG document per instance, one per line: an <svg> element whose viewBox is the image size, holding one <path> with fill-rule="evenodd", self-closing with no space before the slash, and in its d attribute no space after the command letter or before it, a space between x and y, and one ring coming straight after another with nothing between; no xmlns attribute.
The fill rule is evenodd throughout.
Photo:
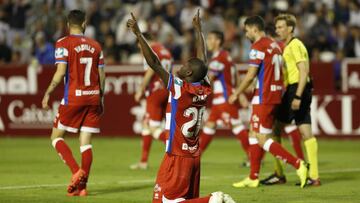
<svg viewBox="0 0 360 203"><path fill-rule="evenodd" d="M215 76L212 103L226 103L236 85L236 67L228 51L215 52L209 63L209 74Z"/></svg>

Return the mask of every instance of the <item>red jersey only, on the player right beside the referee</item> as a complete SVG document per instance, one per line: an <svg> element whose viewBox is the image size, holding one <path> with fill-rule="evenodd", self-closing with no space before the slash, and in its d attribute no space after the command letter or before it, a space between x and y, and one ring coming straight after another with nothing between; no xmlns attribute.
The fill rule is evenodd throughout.
<svg viewBox="0 0 360 203"><path fill-rule="evenodd" d="M279 104L283 79L282 57L278 43L263 37L251 46L249 65L258 68L252 104Z"/></svg>

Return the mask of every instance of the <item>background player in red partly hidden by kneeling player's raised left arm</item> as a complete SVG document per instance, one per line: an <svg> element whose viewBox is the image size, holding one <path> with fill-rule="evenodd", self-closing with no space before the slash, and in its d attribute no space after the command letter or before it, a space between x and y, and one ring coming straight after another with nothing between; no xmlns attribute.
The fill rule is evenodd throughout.
<svg viewBox="0 0 360 203"><path fill-rule="evenodd" d="M162 44L155 41L154 36L151 33L143 33L143 35L159 58L162 66L171 72L173 61L171 53ZM140 102L140 99L145 95L146 114L143 120L143 128L141 132L141 159L140 162L130 166L133 170L148 168L148 158L153 138L163 142L166 141L166 133L162 129L161 121L165 116L169 92L160 78L155 75L155 72L151 68L149 68L145 59L144 68L145 75L141 83L141 87L136 92L134 98L136 102Z"/></svg>

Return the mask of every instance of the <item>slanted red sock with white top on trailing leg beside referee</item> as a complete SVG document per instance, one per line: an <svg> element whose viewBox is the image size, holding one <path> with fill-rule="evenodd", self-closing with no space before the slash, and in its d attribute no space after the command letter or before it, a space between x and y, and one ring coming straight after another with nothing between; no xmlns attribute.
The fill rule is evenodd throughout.
<svg viewBox="0 0 360 203"><path fill-rule="evenodd" d="M286 151L279 143L274 142L272 139L267 139L264 146L264 150L270 152L276 158L281 159L284 162L287 162L298 169L300 166L300 159L291 155Z"/></svg>

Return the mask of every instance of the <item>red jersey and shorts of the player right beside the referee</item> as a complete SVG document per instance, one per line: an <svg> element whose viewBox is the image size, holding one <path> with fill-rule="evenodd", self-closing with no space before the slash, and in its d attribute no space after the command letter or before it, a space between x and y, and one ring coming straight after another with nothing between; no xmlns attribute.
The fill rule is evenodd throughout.
<svg viewBox="0 0 360 203"><path fill-rule="evenodd" d="M258 72L250 122L258 133L272 133L275 108L283 91L281 54L279 44L268 37L251 46L249 65L258 68Z"/></svg>

